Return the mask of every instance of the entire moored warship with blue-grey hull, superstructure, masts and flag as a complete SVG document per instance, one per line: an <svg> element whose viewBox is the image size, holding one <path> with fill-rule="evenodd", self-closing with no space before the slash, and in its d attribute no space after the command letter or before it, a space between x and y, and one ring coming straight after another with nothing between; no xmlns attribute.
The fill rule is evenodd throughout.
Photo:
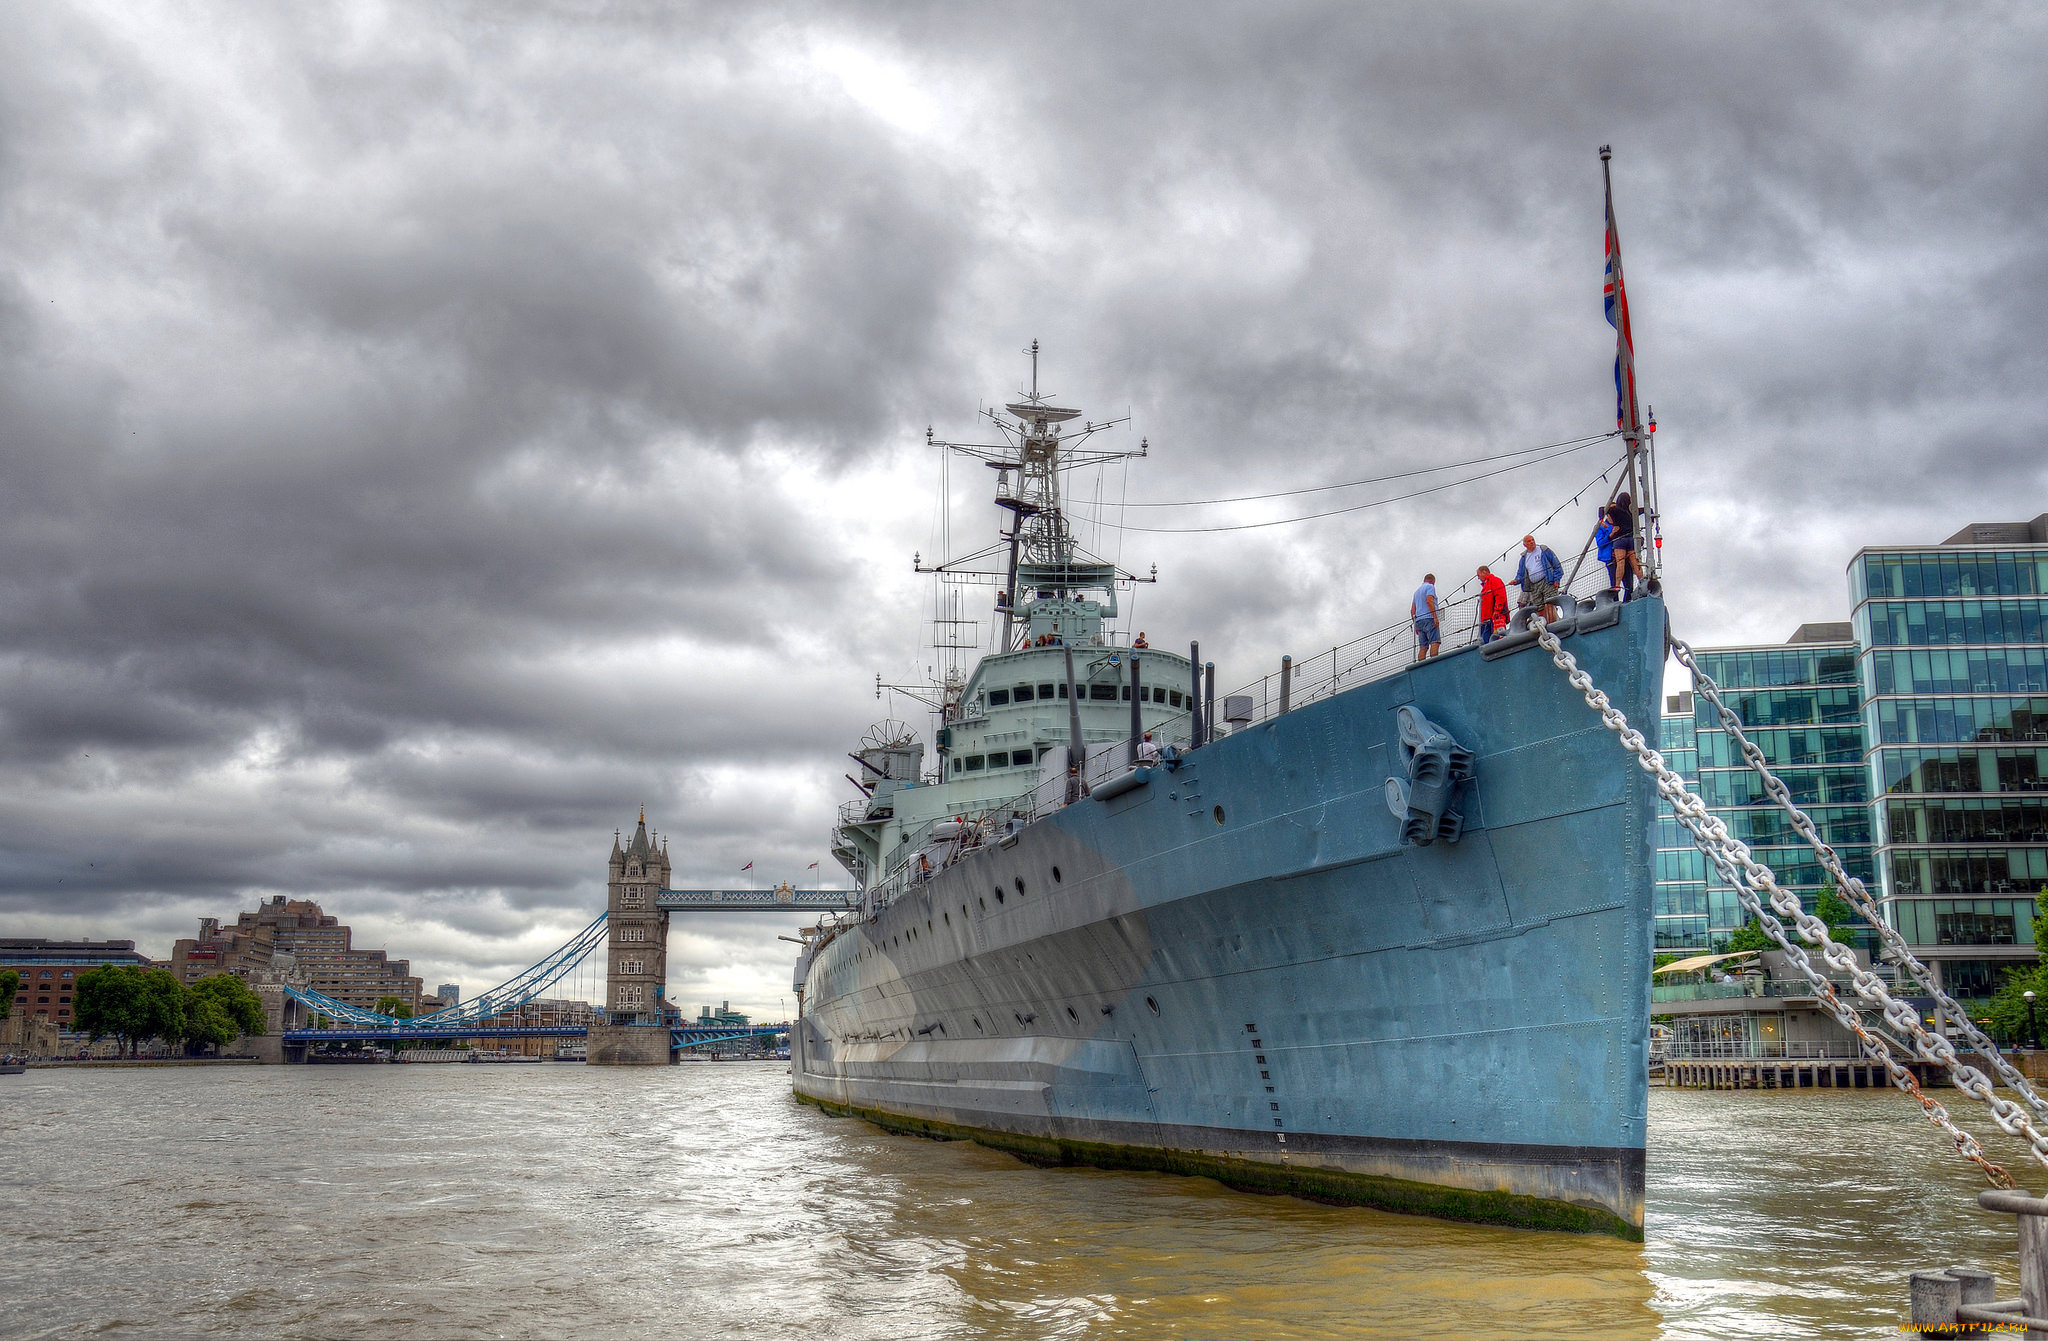
<svg viewBox="0 0 2048 1341"><path fill-rule="evenodd" d="M1655 416L1612 186L1606 242L1599 438L1626 442L1640 549ZM926 432L995 473L995 543L918 565L952 583L940 645L973 647L975 583L993 637L920 694L930 766L893 721L852 751L834 856L858 907L801 938L797 1097L1038 1163L1640 1239L1657 790L1530 620L1657 721L1655 555L1634 600L1567 590L1554 618L1411 663L1401 622L1319 678L1282 659L1278 694L1268 676L1219 715L1200 647L1147 647L1118 608L1157 571L1092 555L1069 516L1069 473L1147 444L1104 448L1122 420L1055 405L1030 356L1030 391L983 409L993 442Z"/></svg>

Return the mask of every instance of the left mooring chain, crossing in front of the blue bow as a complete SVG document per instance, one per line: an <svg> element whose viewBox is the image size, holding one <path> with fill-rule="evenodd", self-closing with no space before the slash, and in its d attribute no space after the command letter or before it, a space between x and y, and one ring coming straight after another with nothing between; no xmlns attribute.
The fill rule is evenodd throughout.
<svg viewBox="0 0 2048 1341"><path fill-rule="evenodd" d="M1663 755L1651 747L1640 731L1628 725L1628 717L1614 706L1614 702L1593 684L1593 678L1579 667L1579 661L1565 651L1565 645L1554 633L1544 629L1542 622L1536 622L1536 639L1542 649L1550 653L1556 667L1565 672L1573 688L1585 696L1585 704L1599 712L1599 719L1608 725L1608 729L1620 737L1622 745L1630 753L1636 755L1636 764L1642 772L1657 780L1657 790L1671 803L1677 821L1686 825L1686 831L1692 833L1700 852L1706 854L1716 872L1720 872L1720 876L1735 889L1743 909L1757 919L1765 936L1769 936L1786 952L1786 960L1792 962L1792 966L1798 968L1800 975L1812 985L1821 1007L1837 1024L1855 1034L1864 1050L1884 1067L1892 1085L1911 1095L1921 1106L1921 1112L1927 1114L1927 1120L1948 1132L1948 1136L1956 1142L1956 1151L1982 1169L1985 1177L1995 1187L2015 1185L2011 1173L2007 1173L2001 1165L1991 1163L1991 1159L1985 1157L1982 1144L1956 1126L1948 1108L1921 1091L1913 1073L1892 1056L1886 1040L1872 1034L1864 1026L1862 1013L1841 999L1835 991L1835 983L1829 981L1825 972L1815 968L1806 948L1794 942L1784 923L1772 915L1774 909L1790 919L1798 927L1798 934L1808 944L1817 946L1821 956L1833 968L1851 977L1855 993L1866 1001L1874 1001L1882 1009L1886 1024L1913 1040L1913 1048L1921 1058L1939 1063L1950 1073L1956 1089L1962 1089L1991 1108L1991 1118L1999 1124L1999 1130L2011 1136L2023 1136L2034 1159L2048 1165L2048 1136L2042 1136L2042 1132L2034 1128L2025 1110L1993 1093L1991 1081L1985 1079L1985 1073L1964 1065L1956 1054L1954 1044L1921 1028L1919 1009L1915 1009L1909 1001L1892 997L1882 979L1855 962L1853 950L1829 938L1827 923L1806 913L1798 895L1784 891L1772 870L1757 862L1741 839L1729 833L1729 827L1706 809L1704 801L1692 794L1686 780L1663 762ZM1759 889L1767 895L1769 907L1765 907L1757 897Z"/></svg>

